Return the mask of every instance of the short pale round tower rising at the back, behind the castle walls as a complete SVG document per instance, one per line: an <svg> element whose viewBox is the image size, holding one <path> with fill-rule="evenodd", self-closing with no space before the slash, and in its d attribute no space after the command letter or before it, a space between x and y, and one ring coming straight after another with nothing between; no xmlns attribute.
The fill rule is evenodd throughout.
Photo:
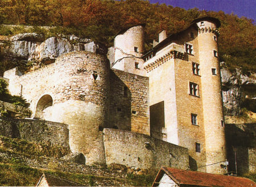
<svg viewBox="0 0 256 187"><path fill-rule="evenodd" d="M115 62L123 57L142 57L144 52L144 25L121 31L114 39Z"/></svg>

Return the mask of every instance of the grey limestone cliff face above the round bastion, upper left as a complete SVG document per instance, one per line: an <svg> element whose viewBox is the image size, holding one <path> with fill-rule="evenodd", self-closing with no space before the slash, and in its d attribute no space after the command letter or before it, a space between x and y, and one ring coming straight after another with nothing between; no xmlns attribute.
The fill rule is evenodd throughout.
<svg viewBox="0 0 256 187"><path fill-rule="evenodd" d="M5 58L22 63L28 61L54 61L61 54L85 50L104 53L104 47L90 39L80 39L74 35L49 37L37 33L21 33L13 37L0 37L0 47Z"/></svg>

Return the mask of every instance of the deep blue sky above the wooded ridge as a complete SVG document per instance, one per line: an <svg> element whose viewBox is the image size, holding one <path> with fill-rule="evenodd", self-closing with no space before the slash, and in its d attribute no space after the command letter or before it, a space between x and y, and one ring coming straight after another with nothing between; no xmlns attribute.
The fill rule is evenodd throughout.
<svg viewBox="0 0 256 187"><path fill-rule="evenodd" d="M173 7L186 10L197 7L199 10L224 11L226 14L234 13L239 18L245 16L256 21L256 0L150 0L151 3L166 3Z"/></svg>

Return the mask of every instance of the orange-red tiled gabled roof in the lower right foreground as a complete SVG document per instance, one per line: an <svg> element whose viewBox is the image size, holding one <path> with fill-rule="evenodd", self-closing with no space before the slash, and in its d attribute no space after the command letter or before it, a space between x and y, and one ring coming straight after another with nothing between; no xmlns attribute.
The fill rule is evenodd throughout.
<svg viewBox="0 0 256 187"><path fill-rule="evenodd" d="M256 186L255 182L242 177L217 175L211 173L187 171L176 168L160 168L152 186L158 186L163 174L166 173L176 184L196 186Z"/></svg>

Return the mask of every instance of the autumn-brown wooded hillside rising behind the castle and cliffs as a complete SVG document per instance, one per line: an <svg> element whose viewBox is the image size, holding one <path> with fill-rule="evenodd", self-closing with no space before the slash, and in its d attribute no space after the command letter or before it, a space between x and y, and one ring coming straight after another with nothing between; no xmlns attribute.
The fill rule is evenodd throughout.
<svg viewBox="0 0 256 187"><path fill-rule="evenodd" d="M231 69L255 67L255 24L253 20L224 14L223 11L185 10L179 7L150 4L143 0L3 0L0 1L0 23L48 25L53 33L73 33L112 45L114 36L131 25L146 23L146 49L163 29L168 35L188 27L193 19L213 16L221 21L219 56ZM18 29L19 30L19 29ZM36 32L43 32L36 28ZM0 35L17 30L0 28Z"/></svg>

